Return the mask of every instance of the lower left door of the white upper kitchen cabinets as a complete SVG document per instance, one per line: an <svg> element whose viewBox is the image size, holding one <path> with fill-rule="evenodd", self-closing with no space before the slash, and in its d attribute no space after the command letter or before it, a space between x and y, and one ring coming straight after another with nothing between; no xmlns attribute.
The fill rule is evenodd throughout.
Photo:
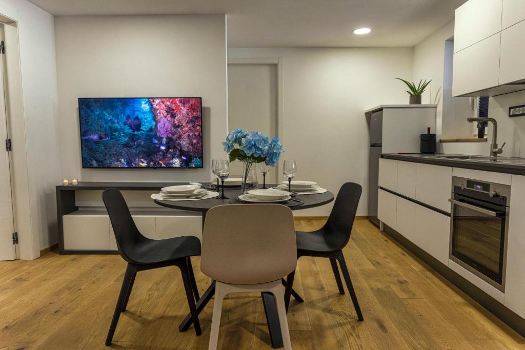
<svg viewBox="0 0 525 350"><path fill-rule="evenodd" d="M454 54L452 96L499 85L500 38L500 33L492 35Z"/></svg>

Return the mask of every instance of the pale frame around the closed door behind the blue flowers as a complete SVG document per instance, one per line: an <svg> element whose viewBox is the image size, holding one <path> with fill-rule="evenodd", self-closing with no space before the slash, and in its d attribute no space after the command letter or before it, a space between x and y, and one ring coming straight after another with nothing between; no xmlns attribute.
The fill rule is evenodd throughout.
<svg viewBox="0 0 525 350"><path fill-rule="evenodd" d="M277 137L281 141L281 144L285 144L283 139L283 67L282 57L242 57L242 58L229 58L227 66L234 65L276 65L277 66ZM227 76L227 75L226 75ZM227 79L227 78L226 78ZM226 82L227 85L227 82ZM227 90L227 89L226 89ZM228 120L228 101L226 101L226 120ZM280 163L275 166L275 171L280 174ZM280 176L277 175L277 178Z"/></svg>

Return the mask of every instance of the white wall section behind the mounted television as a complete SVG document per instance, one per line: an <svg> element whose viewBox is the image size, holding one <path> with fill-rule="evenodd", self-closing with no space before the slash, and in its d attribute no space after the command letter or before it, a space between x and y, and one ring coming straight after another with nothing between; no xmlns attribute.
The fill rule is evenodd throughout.
<svg viewBox="0 0 525 350"><path fill-rule="evenodd" d="M60 174L82 181L209 181L227 133L224 15L55 19ZM79 97L202 97L204 169L82 169Z"/></svg>

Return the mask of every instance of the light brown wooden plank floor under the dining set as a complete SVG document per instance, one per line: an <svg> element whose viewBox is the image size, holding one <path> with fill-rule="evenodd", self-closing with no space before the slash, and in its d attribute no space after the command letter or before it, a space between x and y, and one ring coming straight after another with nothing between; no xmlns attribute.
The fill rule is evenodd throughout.
<svg viewBox="0 0 525 350"><path fill-rule="evenodd" d="M313 230L321 221L296 221ZM348 294L339 295L328 259L301 258L295 287L306 300L290 305L295 349L510 349L525 339L450 285L367 220L356 220L344 250L364 314L357 322ZM125 263L119 256L50 252L33 261L0 262L0 348L106 348ZM194 259L199 289L209 279ZM201 313L203 334L178 333L187 312L176 268L139 272L114 348L205 349L213 302ZM269 349L257 294L223 305L219 347Z"/></svg>

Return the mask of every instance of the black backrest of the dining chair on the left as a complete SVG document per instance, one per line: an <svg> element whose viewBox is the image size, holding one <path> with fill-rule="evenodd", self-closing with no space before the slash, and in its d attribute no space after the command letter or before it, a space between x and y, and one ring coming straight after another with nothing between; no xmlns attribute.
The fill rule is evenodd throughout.
<svg viewBox="0 0 525 350"><path fill-rule="evenodd" d="M102 200L108 210L120 255L125 261L135 262L131 258L134 247L147 239L135 226L128 205L118 189L109 188L105 190L102 193Z"/></svg>

